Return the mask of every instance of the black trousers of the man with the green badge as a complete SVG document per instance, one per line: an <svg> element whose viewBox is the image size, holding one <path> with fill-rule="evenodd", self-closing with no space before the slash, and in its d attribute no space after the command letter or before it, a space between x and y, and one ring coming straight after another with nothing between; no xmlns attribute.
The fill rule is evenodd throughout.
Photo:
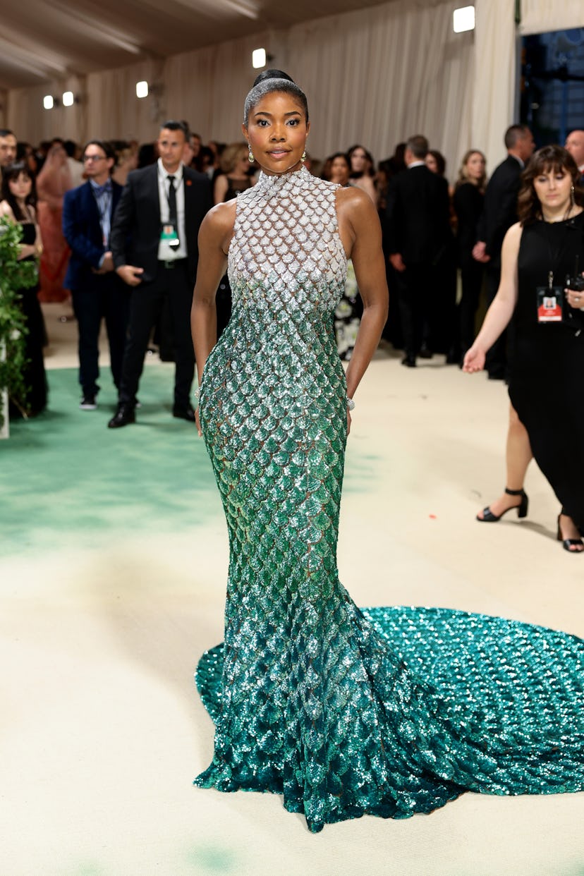
<svg viewBox="0 0 584 876"><path fill-rule="evenodd" d="M124 405L136 404L136 393L144 354L148 348L151 329L163 305L167 304L172 322L172 358L176 365L174 377L174 406L185 409L194 377L194 351L191 336L191 305L193 281L186 270L186 258L166 268L158 262L156 277L149 283L135 286L130 301L128 338L123 354L122 380L119 400Z"/></svg>

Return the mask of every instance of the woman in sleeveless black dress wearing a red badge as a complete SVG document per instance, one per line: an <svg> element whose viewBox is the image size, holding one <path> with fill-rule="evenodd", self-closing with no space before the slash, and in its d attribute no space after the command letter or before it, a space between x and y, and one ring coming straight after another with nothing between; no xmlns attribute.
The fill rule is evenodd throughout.
<svg viewBox="0 0 584 876"><path fill-rule="evenodd" d="M539 468L562 505L558 539L581 553L584 531L584 293L568 278L584 265L584 193L561 146L545 146L523 173L520 221L503 242L496 298L464 359L481 371L485 354L514 316L511 404Z"/></svg>

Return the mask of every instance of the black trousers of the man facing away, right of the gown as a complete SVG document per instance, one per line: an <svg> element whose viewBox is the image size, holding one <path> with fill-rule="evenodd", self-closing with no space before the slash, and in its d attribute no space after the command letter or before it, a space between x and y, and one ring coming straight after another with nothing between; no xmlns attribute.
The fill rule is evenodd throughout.
<svg viewBox="0 0 584 876"><path fill-rule="evenodd" d="M395 278L405 355L415 358L422 345L424 327L434 321L435 269L430 264L408 265L405 271L396 271Z"/></svg>

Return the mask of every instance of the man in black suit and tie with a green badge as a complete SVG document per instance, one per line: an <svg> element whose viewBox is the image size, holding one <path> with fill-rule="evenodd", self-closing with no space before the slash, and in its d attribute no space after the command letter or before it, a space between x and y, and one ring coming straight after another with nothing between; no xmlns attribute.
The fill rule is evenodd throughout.
<svg viewBox="0 0 584 876"><path fill-rule="evenodd" d="M187 137L184 123L163 124L157 163L130 173L116 210L111 232L114 265L134 292L119 400L110 428L136 420L144 354L165 301L172 321L176 364L172 414L194 422L189 399L194 375L190 312L199 226L213 199L208 177L182 163Z"/></svg>

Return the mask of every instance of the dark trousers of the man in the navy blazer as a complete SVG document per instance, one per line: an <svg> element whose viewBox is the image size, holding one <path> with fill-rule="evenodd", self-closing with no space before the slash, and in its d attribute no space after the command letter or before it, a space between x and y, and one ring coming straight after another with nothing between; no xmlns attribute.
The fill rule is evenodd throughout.
<svg viewBox="0 0 584 876"><path fill-rule="evenodd" d="M111 375L119 389L123 349L130 313L130 288L115 274L96 274L83 289L73 289L79 330L79 382L84 396L99 392L99 333L102 319L108 333Z"/></svg>

